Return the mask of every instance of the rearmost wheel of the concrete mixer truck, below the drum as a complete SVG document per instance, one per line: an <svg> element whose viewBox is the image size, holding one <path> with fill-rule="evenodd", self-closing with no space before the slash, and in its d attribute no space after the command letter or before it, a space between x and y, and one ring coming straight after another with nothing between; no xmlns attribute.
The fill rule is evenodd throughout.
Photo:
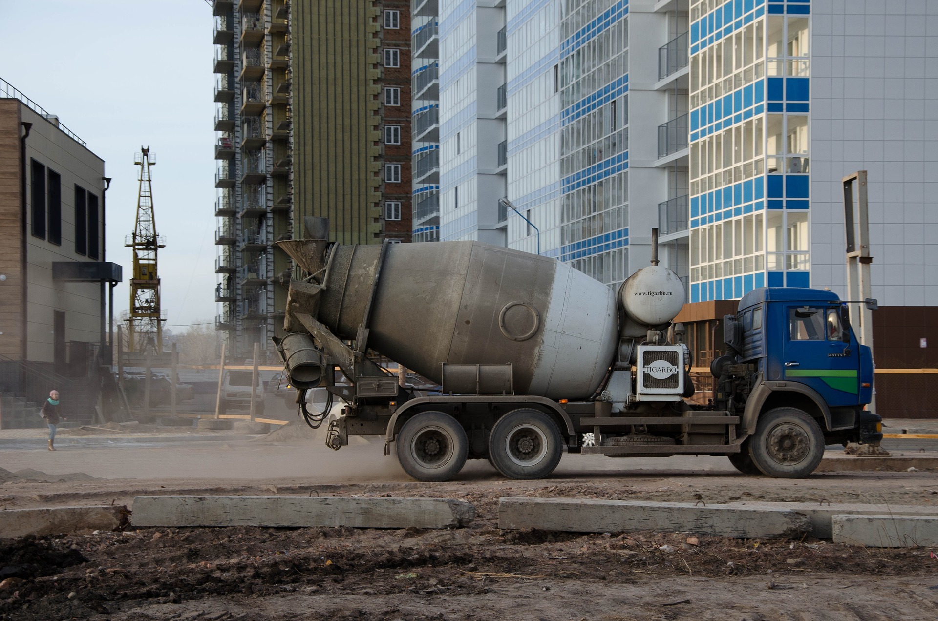
<svg viewBox="0 0 938 621"><path fill-rule="evenodd" d="M418 481L448 481L469 454L462 425L443 412L421 412L408 420L395 445L401 468Z"/></svg>

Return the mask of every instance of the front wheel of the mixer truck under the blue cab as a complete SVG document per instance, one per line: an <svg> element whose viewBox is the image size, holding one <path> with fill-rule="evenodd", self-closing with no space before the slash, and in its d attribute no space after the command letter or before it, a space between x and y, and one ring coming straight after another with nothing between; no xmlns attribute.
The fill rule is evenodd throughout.
<svg viewBox="0 0 938 621"><path fill-rule="evenodd" d="M807 477L821 463L824 449L821 426L807 412L794 407L765 412L749 438L749 457L769 477Z"/></svg>

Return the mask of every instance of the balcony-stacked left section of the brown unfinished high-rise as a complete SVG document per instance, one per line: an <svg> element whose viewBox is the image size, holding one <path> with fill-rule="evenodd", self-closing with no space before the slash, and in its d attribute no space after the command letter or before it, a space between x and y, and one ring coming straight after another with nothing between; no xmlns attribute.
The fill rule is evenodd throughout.
<svg viewBox="0 0 938 621"><path fill-rule="evenodd" d="M289 258L274 247L293 235L290 173L290 34L284 0L215 0L218 161L215 215L216 326L231 356L271 347Z"/></svg>

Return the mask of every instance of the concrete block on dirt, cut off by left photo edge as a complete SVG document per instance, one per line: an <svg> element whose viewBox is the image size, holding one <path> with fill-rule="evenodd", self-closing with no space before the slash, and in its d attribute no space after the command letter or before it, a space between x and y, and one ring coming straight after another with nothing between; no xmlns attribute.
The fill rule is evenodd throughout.
<svg viewBox="0 0 938 621"><path fill-rule="evenodd" d="M114 530L127 523L127 507L17 508L0 511L0 538Z"/></svg>

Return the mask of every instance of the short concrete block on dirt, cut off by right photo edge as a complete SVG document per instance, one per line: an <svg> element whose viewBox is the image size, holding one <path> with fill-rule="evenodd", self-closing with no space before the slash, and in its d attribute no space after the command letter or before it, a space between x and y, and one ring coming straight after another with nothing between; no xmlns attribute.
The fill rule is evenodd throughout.
<svg viewBox="0 0 938 621"><path fill-rule="evenodd" d="M873 548L938 546L938 516L835 515L834 543Z"/></svg>

